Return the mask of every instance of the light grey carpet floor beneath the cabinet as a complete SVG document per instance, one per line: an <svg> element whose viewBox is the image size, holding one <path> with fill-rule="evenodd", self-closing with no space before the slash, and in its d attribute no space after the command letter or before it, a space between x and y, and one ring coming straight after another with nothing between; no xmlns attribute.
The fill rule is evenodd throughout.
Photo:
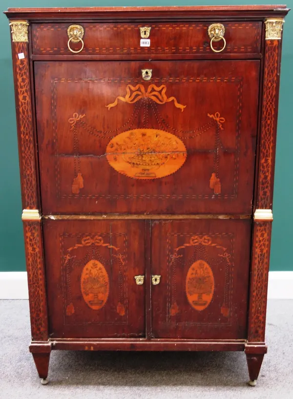
<svg viewBox="0 0 293 399"><path fill-rule="evenodd" d="M293 399L293 301L270 300L258 384L246 385L245 355L53 351L48 385L31 354L28 302L0 301L1 399Z"/></svg>

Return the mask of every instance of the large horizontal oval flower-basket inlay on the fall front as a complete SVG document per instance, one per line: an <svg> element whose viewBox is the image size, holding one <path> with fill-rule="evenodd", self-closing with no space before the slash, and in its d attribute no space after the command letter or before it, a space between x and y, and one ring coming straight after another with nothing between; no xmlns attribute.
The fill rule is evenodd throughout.
<svg viewBox="0 0 293 399"><path fill-rule="evenodd" d="M133 179L158 179L184 164L187 150L174 134L158 129L134 129L118 134L106 148L112 168Z"/></svg>

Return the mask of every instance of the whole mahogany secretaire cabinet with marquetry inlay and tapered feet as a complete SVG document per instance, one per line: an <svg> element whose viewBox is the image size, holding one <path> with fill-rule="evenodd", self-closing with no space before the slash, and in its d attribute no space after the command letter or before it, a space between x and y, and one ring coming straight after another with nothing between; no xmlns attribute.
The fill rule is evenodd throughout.
<svg viewBox="0 0 293 399"><path fill-rule="evenodd" d="M284 5L11 8L34 357L264 354Z"/></svg>

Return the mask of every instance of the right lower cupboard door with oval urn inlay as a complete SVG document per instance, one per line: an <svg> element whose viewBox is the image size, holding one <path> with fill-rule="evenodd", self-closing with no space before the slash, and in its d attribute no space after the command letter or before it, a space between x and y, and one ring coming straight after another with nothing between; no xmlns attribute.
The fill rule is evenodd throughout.
<svg viewBox="0 0 293 399"><path fill-rule="evenodd" d="M153 222L152 336L246 338L250 240L251 220Z"/></svg>

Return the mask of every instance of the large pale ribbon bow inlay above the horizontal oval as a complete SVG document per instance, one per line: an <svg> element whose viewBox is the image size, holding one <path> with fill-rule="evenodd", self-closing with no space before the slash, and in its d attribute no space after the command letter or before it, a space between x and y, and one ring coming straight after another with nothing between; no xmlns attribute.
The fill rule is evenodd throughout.
<svg viewBox="0 0 293 399"><path fill-rule="evenodd" d="M167 97L166 95L167 87L165 84L162 84L160 87L156 86L155 84L150 84L147 88L142 84L137 84L136 86L132 86L131 84L127 84L126 86L126 96L117 96L115 98L114 103L105 105L108 110L118 104L118 100L123 101L124 103L134 104L138 100L142 98L150 98L157 104L165 104L169 103L170 101L174 101L174 105L176 108L180 108L181 112L183 112L186 105L179 104L175 97Z"/></svg>

